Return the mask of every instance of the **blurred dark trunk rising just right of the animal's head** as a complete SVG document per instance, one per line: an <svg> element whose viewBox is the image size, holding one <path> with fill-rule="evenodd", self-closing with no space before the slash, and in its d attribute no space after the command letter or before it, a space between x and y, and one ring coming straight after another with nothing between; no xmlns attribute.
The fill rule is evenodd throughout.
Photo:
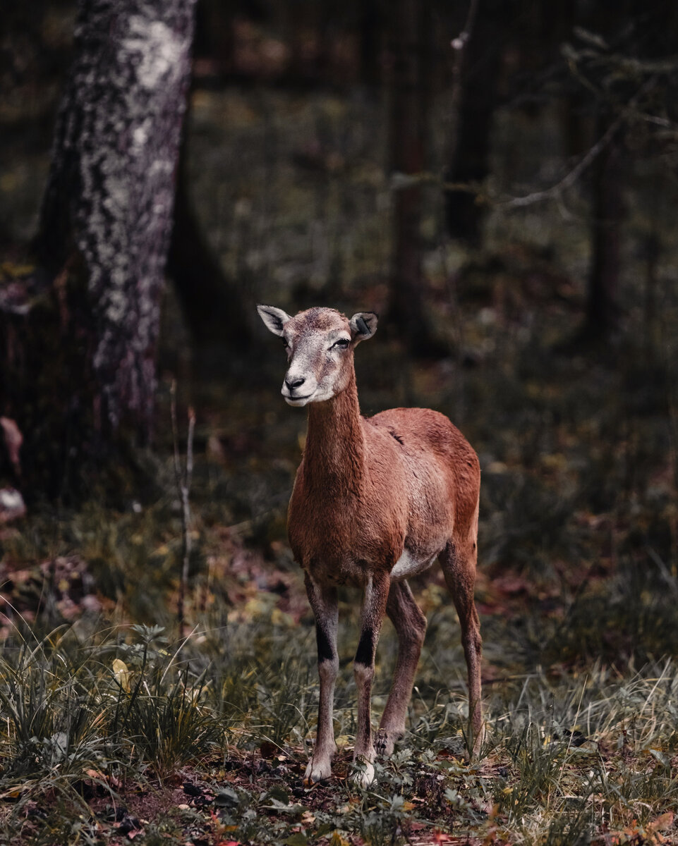
<svg viewBox="0 0 678 846"><path fill-rule="evenodd" d="M389 114L392 173L422 173L427 137L430 7L427 0L397 0L391 9L393 70ZM422 190L394 190L389 324L413 353L435 346L424 310Z"/></svg>

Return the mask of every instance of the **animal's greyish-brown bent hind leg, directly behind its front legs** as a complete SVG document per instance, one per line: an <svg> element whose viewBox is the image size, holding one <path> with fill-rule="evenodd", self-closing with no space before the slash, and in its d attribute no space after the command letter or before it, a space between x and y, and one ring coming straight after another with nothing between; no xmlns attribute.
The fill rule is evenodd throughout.
<svg viewBox="0 0 678 846"><path fill-rule="evenodd" d="M377 752L390 755L396 740L405 734L407 704L412 695L416 665L426 634L426 617L416 604L407 582L394 582L389 591L386 613L398 634L398 662L389 700L377 734Z"/></svg>

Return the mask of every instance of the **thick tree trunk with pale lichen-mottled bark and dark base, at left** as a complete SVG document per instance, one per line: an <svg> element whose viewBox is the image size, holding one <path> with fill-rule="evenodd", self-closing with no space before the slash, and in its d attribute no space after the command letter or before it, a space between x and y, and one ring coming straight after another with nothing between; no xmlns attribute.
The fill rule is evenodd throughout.
<svg viewBox="0 0 678 846"><path fill-rule="evenodd" d="M47 274L2 327L0 399L47 493L123 433L151 436L194 3L80 3L36 238Z"/></svg>

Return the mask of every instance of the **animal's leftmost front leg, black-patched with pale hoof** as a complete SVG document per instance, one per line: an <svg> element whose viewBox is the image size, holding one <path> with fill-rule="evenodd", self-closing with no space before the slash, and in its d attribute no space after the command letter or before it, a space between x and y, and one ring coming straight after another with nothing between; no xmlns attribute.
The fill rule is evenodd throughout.
<svg viewBox="0 0 678 846"><path fill-rule="evenodd" d="M317 714L316 745L306 767L304 783L309 787L314 782L329 778L332 758L336 750L332 711L334 682L339 672L337 652L337 624L339 607L337 591L317 585L306 574L306 593L316 618L317 672L320 677L320 705Z"/></svg>

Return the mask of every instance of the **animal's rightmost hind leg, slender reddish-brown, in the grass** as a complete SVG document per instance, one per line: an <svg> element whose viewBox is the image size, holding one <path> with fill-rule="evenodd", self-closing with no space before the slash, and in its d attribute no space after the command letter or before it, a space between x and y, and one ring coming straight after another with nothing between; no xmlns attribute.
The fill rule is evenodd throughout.
<svg viewBox="0 0 678 846"><path fill-rule="evenodd" d="M476 584L477 530L463 542L449 541L440 554L445 582L452 594L461 626L461 645L468 670L468 715L472 754L476 755L482 740L482 705L480 662L482 638L480 620L473 598Z"/></svg>

